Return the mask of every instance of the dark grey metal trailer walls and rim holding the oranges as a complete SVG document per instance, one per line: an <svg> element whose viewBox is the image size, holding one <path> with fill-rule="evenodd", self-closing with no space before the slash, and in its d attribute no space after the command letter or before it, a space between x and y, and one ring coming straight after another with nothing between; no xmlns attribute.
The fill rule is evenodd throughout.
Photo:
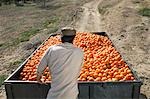
<svg viewBox="0 0 150 99"><path fill-rule="evenodd" d="M108 35L105 32L95 32L95 34L108 37ZM57 34L51 34L50 36L55 36L55 35ZM30 59L31 56L28 59ZM22 71L28 59L26 59L26 61L21 66L19 66L17 70L13 72L5 80L4 84L5 84L7 99L45 99L46 98L46 95L50 88L50 84L41 85L38 84L36 81L21 81L18 79L20 72ZM79 81L78 97L79 99L139 99L140 87L142 85L142 82L138 79L136 73L133 70L132 73L136 78L135 81L117 81L117 82ZM71 99L71 97L69 99Z"/></svg>

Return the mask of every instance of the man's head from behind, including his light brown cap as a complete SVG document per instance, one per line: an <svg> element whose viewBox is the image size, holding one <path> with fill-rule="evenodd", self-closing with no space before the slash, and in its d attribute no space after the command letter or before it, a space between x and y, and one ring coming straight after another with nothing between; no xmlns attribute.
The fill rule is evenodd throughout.
<svg viewBox="0 0 150 99"><path fill-rule="evenodd" d="M73 43L74 37L76 36L76 30L71 27L64 27L61 29L62 36L61 41L62 43L68 42Z"/></svg>

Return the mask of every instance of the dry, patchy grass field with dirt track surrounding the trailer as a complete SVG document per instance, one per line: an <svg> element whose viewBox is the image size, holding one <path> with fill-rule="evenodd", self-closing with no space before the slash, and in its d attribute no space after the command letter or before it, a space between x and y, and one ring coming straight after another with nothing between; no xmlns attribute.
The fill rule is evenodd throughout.
<svg viewBox="0 0 150 99"><path fill-rule="evenodd" d="M106 31L143 81L141 99L150 99L149 0L51 0L0 7L0 84L50 33L63 26ZM3 86L0 99L5 97Z"/></svg>

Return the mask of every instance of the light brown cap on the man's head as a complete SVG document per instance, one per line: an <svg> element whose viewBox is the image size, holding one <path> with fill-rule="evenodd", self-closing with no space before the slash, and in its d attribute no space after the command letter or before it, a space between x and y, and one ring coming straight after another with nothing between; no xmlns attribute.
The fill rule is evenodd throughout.
<svg viewBox="0 0 150 99"><path fill-rule="evenodd" d="M63 27L61 29L62 36L74 36L76 35L76 30L72 27Z"/></svg>

